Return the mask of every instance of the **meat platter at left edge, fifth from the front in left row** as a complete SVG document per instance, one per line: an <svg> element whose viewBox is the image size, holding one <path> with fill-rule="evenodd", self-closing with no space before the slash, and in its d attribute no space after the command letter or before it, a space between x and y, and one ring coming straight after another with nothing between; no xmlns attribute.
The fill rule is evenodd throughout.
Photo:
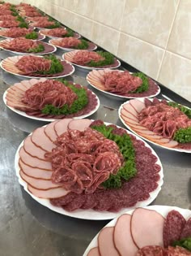
<svg viewBox="0 0 191 256"><path fill-rule="evenodd" d="M0 30L0 37L17 38L24 37L26 39L43 40L44 35L33 31L32 28L4 28Z"/></svg>

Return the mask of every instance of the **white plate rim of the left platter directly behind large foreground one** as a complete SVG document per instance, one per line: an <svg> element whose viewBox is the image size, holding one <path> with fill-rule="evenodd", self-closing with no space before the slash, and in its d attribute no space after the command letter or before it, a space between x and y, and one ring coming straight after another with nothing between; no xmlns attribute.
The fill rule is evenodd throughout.
<svg viewBox="0 0 191 256"><path fill-rule="evenodd" d="M39 82L40 80L36 80L36 83ZM26 82L26 80L24 80L23 82ZM18 83L17 83L18 84ZM6 106L11 109L11 111L14 111L15 113L22 115L24 117L27 117L29 119L34 119L34 120L38 120L38 121L45 121L45 122L53 122L53 121L58 121L59 119L51 119L51 118L42 118L42 117L36 117L36 116L32 116L32 115L27 115L24 111L19 111L16 110L14 107L8 106L6 103L6 94L8 92L9 89L6 89L5 93L3 93L3 102L6 104ZM93 92L91 92L93 93ZM96 96L97 99L97 106L95 107L94 110L90 111L88 114L85 115L79 115L76 117L73 117L73 119L83 119L86 118L89 115L93 115L100 107L100 99L97 97L97 95L95 93L93 93Z"/></svg>

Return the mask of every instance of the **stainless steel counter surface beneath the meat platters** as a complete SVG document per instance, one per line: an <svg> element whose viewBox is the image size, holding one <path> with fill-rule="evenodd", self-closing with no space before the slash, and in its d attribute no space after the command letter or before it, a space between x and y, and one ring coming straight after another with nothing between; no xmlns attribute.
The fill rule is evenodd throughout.
<svg viewBox="0 0 191 256"><path fill-rule="evenodd" d="M3 54L0 53L2 59ZM86 76L87 72L76 69L74 75L67 79L91 88L87 85ZM108 221L89 221L59 215L34 201L19 185L14 168L17 147L28 133L46 123L27 119L6 108L2 95L9 85L17 81L17 77L1 72L0 255L81 256L91 239ZM159 98L163 94L190 106L189 102L176 93L163 86L161 89ZM117 115L117 109L124 101L108 98L96 89L92 91L100 98L101 105L90 118L103 119L124 127ZM152 204L191 209L191 155L151 146L163 163L164 173L162 190Z"/></svg>

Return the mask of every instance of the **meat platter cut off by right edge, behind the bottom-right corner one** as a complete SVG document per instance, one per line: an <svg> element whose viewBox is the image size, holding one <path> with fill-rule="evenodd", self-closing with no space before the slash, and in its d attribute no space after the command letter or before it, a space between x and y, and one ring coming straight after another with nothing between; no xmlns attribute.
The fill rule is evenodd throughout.
<svg viewBox="0 0 191 256"><path fill-rule="evenodd" d="M119 117L130 131L164 149L191 153L191 110L157 98L132 99L121 105Z"/></svg>

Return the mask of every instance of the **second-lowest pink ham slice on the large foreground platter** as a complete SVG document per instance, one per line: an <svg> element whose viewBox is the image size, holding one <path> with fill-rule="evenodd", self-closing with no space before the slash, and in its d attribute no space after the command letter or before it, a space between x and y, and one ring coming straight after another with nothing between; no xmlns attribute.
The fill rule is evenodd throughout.
<svg viewBox="0 0 191 256"><path fill-rule="evenodd" d="M30 176L27 176L26 174L23 173L22 170L20 170L19 173L20 173L21 178L25 182L30 184L30 186L32 186L32 188L40 189L40 190L47 190L47 189L54 189L54 188L61 187L58 184L53 184L53 182L51 180L40 180L40 179L36 179L36 178L30 177Z"/></svg>

